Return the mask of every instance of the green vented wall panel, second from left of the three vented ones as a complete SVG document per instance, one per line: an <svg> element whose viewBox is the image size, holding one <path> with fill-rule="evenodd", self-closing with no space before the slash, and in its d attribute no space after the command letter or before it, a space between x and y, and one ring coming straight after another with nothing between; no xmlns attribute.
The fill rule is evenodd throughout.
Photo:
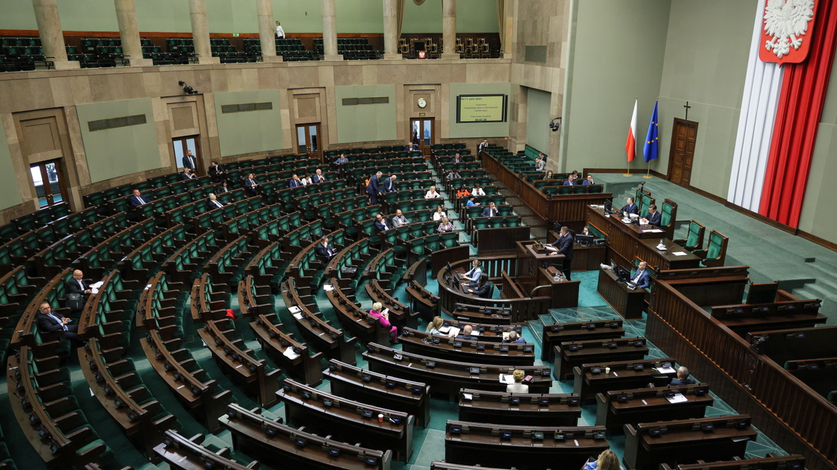
<svg viewBox="0 0 837 470"><path fill-rule="evenodd" d="M215 115L221 156L285 148L282 142L282 112L278 89L216 93ZM272 110L222 113L223 105L273 103Z"/></svg>

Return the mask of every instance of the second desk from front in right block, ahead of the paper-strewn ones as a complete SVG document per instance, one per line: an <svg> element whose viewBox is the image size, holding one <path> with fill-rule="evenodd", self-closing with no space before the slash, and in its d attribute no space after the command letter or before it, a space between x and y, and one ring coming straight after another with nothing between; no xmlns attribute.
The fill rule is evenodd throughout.
<svg viewBox="0 0 837 470"><path fill-rule="evenodd" d="M615 345L615 347L611 347ZM573 350L578 348L577 350ZM561 343L555 346L552 375L559 381L573 376L573 367L588 362L642 360L648 354L644 338L612 338Z"/></svg>

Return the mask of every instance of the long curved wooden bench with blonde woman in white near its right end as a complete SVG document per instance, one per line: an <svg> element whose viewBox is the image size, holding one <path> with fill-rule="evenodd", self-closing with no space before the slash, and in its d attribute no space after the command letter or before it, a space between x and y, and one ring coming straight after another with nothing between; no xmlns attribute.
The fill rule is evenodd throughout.
<svg viewBox="0 0 837 470"><path fill-rule="evenodd" d="M431 386L435 393L445 393L449 396L458 395L461 388L506 391L507 384L501 383L500 375L511 375L515 369L532 375L531 383L527 383L532 393L549 393L549 387L552 386L548 365L511 366L457 362L393 350L373 343L367 345L367 350L362 356L369 363L369 370L423 382Z"/></svg>

